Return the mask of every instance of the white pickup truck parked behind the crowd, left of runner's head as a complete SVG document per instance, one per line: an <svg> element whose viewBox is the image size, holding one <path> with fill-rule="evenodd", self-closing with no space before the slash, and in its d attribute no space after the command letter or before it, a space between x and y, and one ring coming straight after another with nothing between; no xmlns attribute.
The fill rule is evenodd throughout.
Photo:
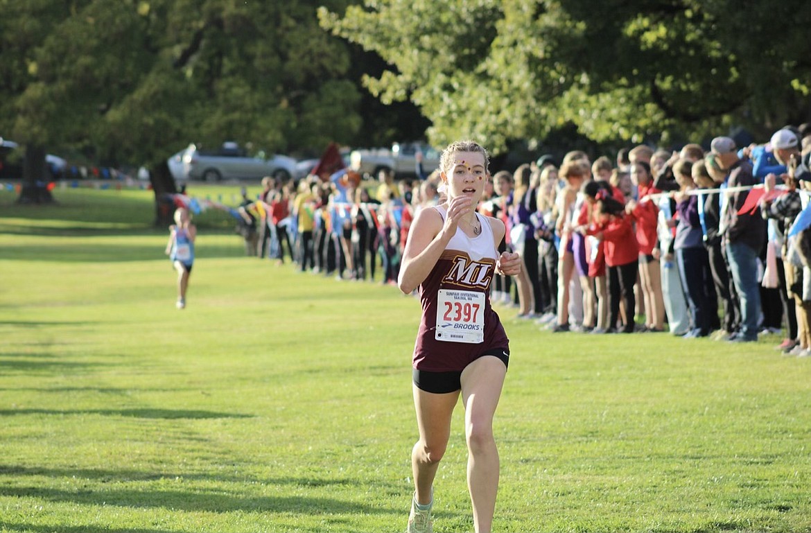
<svg viewBox="0 0 811 533"><path fill-rule="evenodd" d="M431 174L440 166L440 153L427 144L394 143L391 149L372 148L350 153L350 168L371 178L380 170L393 170L397 178L413 178L417 172L417 153L423 154L423 172Z"/></svg>

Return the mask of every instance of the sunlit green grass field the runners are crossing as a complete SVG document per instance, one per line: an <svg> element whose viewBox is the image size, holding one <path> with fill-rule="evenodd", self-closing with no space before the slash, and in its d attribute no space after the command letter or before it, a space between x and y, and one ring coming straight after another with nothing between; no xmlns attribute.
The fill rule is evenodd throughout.
<svg viewBox="0 0 811 533"><path fill-rule="evenodd" d="M244 257L207 212L178 311L151 193L54 192L0 192L0 531L405 528L416 299ZM497 531L811 531L811 361L779 336L498 309ZM473 528L459 409L436 531Z"/></svg>

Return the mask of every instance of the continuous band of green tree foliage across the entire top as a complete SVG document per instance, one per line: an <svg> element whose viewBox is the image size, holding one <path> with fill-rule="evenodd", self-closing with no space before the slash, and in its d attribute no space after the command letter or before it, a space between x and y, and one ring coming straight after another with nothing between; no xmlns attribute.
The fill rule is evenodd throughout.
<svg viewBox="0 0 811 533"><path fill-rule="evenodd" d="M312 152L428 127L497 152L811 113L803 0L361 1L0 0L0 135L155 164L191 141Z"/></svg>

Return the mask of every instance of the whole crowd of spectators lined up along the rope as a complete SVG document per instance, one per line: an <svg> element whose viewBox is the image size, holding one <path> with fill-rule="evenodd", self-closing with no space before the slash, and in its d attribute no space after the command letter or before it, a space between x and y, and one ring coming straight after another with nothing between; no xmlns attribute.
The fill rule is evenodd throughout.
<svg viewBox="0 0 811 533"><path fill-rule="evenodd" d="M479 211L507 225L520 276L499 277L491 301L552 332L669 332L753 342L811 355L811 131L765 144L676 152L641 144L616 158L567 153L500 171ZM344 169L328 179L263 182L242 202L247 253L302 272L396 284L410 221L441 197L437 171L378 183ZM809 210L811 213L811 210ZM502 250L503 251L503 250Z"/></svg>

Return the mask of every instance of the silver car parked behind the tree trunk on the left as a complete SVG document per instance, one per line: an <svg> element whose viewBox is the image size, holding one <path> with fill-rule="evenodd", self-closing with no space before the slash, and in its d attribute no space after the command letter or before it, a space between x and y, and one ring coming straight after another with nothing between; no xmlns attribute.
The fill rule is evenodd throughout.
<svg viewBox="0 0 811 533"><path fill-rule="evenodd" d="M177 157L179 154L174 154ZM171 167L171 165L170 165ZM294 175L296 161L292 157L272 155L264 152L254 156L238 144L226 142L221 148L206 151L190 144L182 152L182 175L187 179L200 179L218 182L223 179L260 179L272 176L282 182Z"/></svg>

